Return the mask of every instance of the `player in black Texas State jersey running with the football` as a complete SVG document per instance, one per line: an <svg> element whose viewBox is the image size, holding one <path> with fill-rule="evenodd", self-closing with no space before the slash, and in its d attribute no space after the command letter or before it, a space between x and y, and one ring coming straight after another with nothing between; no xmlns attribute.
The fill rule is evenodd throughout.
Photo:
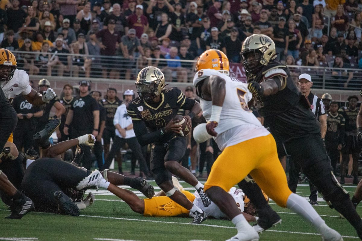
<svg viewBox="0 0 362 241"><path fill-rule="evenodd" d="M151 171L156 184L173 201L195 214L191 223L206 220L206 214L193 205L184 194L172 184L172 174L194 186L200 194L204 206L210 205L210 199L203 191L203 185L180 162L185 154L187 140L177 133L181 128L173 118L178 109L190 112L184 116L189 128L191 121L201 111L200 104L186 98L178 88L165 89L165 77L160 69L148 66L142 69L136 79L138 98L127 104L127 112L132 118L134 132L138 142L144 146L151 144Z"/></svg>

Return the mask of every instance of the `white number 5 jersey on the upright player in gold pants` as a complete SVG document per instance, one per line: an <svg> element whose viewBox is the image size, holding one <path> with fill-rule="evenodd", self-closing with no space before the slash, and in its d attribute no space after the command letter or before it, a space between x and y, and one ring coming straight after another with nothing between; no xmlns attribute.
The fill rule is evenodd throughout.
<svg viewBox="0 0 362 241"><path fill-rule="evenodd" d="M215 141L220 150L227 146L247 141L248 139L270 134L248 109L248 102L252 99L252 94L248 90L246 83L240 82L225 74L213 69L199 70L194 77L194 85L200 80L209 76L217 75L225 79L226 95L222 106L220 121L215 128L218 136ZM210 120L212 102L200 98L202 114L206 121Z"/></svg>

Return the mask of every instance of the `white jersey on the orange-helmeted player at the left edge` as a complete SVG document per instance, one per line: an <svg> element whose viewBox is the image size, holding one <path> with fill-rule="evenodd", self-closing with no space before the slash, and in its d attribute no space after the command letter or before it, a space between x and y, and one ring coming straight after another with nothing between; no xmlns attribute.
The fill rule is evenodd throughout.
<svg viewBox="0 0 362 241"><path fill-rule="evenodd" d="M14 76L6 82L1 83L5 96L8 99L14 98L15 95L27 95L31 91L29 76L24 70L16 69Z"/></svg>

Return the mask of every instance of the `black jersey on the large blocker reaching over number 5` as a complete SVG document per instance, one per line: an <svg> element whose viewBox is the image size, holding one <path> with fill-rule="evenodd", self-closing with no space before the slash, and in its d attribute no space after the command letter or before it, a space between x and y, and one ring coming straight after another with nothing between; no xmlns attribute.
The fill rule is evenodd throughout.
<svg viewBox="0 0 362 241"><path fill-rule="evenodd" d="M311 110L301 102L301 93L295 86L286 65L272 61L248 81L261 83L266 80L264 76L269 70L277 68L284 70L287 74L283 89L275 95L254 98L255 107L264 117L265 127L269 127L275 138L282 142L320 133L320 125Z"/></svg>

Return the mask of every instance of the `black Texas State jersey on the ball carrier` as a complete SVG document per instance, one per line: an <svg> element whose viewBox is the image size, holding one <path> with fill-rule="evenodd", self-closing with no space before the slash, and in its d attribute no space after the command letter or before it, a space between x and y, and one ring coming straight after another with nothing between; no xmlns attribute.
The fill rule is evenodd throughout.
<svg viewBox="0 0 362 241"><path fill-rule="evenodd" d="M186 98L184 93L176 88L165 89L161 93L159 103L146 102L135 98L127 104L127 113L132 121L143 121L148 132L155 132L167 125L178 112L178 109L191 110L195 101ZM170 139L173 135L170 135Z"/></svg>

